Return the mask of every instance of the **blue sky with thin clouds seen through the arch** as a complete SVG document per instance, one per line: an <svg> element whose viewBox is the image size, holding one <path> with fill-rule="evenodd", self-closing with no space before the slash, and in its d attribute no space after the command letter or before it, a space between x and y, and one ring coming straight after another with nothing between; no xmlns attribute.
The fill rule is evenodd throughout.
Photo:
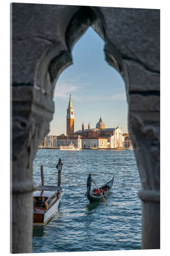
<svg viewBox="0 0 170 256"><path fill-rule="evenodd" d="M104 41L91 28L72 50L73 65L59 76L54 92L55 114L50 134L66 134L66 109L71 94L75 131L90 122L95 127L102 116L107 128L119 124L128 132L128 104L125 83L120 74L105 61Z"/></svg>

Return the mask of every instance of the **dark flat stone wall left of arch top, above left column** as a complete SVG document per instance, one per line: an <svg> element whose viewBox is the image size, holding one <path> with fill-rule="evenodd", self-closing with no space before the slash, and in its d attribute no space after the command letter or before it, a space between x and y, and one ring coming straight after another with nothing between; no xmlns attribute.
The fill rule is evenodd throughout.
<svg viewBox="0 0 170 256"><path fill-rule="evenodd" d="M56 48L56 55L66 50L57 27L61 18L60 11L68 7L19 3L13 3L11 6L12 82L33 84L37 61L46 53L46 49L60 46Z"/></svg>

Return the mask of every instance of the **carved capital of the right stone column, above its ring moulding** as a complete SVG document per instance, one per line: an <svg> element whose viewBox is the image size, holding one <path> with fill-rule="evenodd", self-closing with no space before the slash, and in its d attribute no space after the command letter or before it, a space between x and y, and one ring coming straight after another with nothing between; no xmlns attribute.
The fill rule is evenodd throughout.
<svg viewBox="0 0 170 256"><path fill-rule="evenodd" d="M160 123L129 113L129 129L143 189L160 189ZM141 118L142 117L142 118Z"/></svg>

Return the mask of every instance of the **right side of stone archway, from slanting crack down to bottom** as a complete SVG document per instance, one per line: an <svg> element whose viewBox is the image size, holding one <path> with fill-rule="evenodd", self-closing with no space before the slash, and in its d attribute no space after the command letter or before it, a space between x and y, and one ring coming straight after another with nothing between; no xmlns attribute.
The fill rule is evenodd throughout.
<svg viewBox="0 0 170 256"><path fill-rule="evenodd" d="M160 76L125 61L129 132L142 188L142 249L160 248Z"/></svg>

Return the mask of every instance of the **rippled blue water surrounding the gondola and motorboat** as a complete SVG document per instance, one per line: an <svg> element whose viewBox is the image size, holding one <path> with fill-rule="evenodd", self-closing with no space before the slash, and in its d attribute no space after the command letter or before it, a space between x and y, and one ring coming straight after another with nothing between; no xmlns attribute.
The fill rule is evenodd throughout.
<svg viewBox="0 0 170 256"><path fill-rule="evenodd" d="M33 166L37 185L41 182L40 165L44 166L44 184L57 185L59 158L64 194L55 217L44 227L34 227L33 252L140 249L140 179L134 152L38 150ZM99 186L114 174L108 206L104 201L90 203L85 197L89 172Z"/></svg>

